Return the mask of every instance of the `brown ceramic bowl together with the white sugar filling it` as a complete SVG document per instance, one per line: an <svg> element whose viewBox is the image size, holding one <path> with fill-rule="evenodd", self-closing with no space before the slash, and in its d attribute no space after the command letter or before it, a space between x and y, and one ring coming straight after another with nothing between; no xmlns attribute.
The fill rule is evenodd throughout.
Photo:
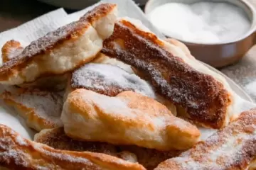
<svg viewBox="0 0 256 170"><path fill-rule="evenodd" d="M146 17L213 67L240 60L256 44L253 0L149 0Z"/></svg>

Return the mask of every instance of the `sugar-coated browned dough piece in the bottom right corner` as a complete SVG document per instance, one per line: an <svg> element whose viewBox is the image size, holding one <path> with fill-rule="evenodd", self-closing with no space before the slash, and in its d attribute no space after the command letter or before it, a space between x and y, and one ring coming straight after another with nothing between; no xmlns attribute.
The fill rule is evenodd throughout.
<svg viewBox="0 0 256 170"><path fill-rule="evenodd" d="M256 159L256 108L155 170L247 169Z"/></svg>

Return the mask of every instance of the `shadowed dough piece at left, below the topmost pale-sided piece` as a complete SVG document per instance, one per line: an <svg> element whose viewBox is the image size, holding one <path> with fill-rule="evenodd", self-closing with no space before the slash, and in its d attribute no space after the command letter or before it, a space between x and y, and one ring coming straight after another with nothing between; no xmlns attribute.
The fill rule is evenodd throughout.
<svg viewBox="0 0 256 170"><path fill-rule="evenodd" d="M39 89L13 89L0 96L9 106L14 106L28 127L40 131L63 126L60 114L63 96L52 91Z"/></svg>

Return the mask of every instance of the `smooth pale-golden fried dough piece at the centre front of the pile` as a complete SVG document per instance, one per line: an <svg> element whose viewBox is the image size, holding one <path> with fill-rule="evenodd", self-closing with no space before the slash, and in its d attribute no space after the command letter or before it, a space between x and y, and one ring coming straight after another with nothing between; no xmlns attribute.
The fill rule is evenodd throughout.
<svg viewBox="0 0 256 170"><path fill-rule="evenodd" d="M196 126L166 106L133 91L115 97L77 89L61 114L65 133L78 140L137 145L161 151L188 149L200 137Z"/></svg>

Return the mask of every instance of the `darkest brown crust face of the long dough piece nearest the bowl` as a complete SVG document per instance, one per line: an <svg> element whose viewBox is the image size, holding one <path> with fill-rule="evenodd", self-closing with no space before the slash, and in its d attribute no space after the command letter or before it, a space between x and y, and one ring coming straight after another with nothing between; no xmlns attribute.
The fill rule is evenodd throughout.
<svg viewBox="0 0 256 170"><path fill-rule="evenodd" d="M196 71L163 46L156 35L122 20L115 23L114 33L103 42L102 53L148 75L156 90L185 108L194 122L222 128L231 102L223 84Z"/></svg>

